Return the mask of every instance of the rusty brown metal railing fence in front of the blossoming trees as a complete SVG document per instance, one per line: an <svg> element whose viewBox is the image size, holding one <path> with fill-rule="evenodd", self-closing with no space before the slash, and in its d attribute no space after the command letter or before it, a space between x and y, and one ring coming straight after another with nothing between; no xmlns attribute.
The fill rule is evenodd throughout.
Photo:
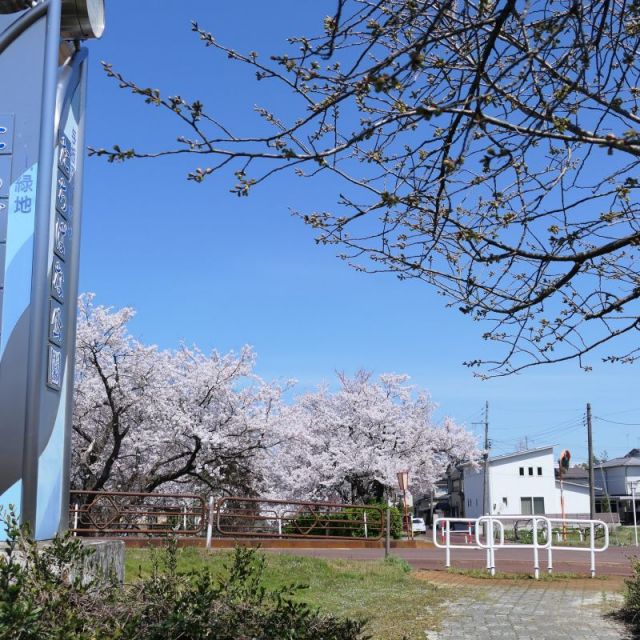
<svg viewBox="0 0 640 640"><path fill-rule="evenodd" d="M88 536L205 536L380 540L378 506L332 502L210 498L196 494L72 491L69 529Z"/></svg>

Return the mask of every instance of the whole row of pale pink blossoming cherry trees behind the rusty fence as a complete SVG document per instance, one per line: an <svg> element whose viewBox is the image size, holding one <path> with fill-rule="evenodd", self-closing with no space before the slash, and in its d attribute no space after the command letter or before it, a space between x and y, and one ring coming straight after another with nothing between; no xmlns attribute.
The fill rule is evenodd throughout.
<svg viewBox="0 0 640 640"><path fill-rule="evenodd" d="M79 301L75 489L362 501L396 486L428 490L477 457L475 438L408 377L339 376L337 391L283 397L291 381L254 373L255 353L160 350L129 332L131 308Z"/></svg>

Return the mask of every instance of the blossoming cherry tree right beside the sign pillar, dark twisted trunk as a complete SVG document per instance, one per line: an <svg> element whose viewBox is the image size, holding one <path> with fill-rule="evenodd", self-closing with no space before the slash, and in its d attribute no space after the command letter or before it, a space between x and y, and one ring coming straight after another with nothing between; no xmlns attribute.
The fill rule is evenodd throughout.
<svg viewBox="0 0 640 640"><path fill-rule="evenodd" d="M256 453L278 442L283 387L254 375L255 354L160 351L128 330L133 309L80 298L72 484L251 494Z"/></svg>

